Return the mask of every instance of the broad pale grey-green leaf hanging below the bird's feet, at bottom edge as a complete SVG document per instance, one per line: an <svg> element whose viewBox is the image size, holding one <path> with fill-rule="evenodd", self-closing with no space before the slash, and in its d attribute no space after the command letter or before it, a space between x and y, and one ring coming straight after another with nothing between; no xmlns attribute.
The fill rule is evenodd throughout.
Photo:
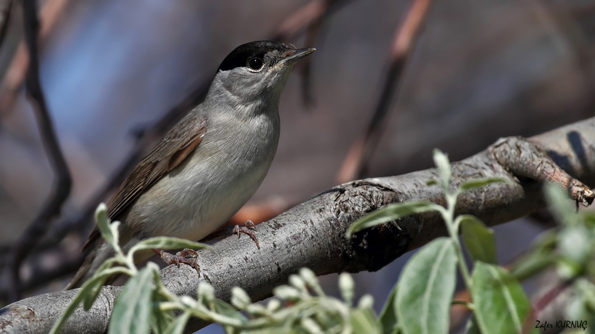
<svg viewBox="0 0 595 334"><path fill-rule="evenodd" d="M153 278L159 267L148 263L126 283L109 320L109 334L148 334L152 314Z"/></svg>

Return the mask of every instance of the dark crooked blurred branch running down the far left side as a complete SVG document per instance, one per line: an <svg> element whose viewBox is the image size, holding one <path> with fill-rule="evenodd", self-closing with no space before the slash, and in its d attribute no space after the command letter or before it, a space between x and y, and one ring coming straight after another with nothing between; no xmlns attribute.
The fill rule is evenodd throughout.
<svg viewBox="0 0 595 334"><path fill-rule="evenodd" d="M42 137L43 145L48 153L49 160L53 165L55 172L55 181L49 200L43 206L37 218L27 227L23 235L12 247L9 255L8 270L11 287L9 296L11 301L20 299L21 282L20 267L27 254L32 250L37 242L43 237L51 219L60 215L60 209L64 201L70 194L72 179L64 156L58 144L58 138L52 126L52 120L49 117L48 106L43 96L41 84L39 82L39 52L37 46L37 37L39 32L39 21L37 20L37 10L35 0L23 0L23 18L24 31L27 48L29 49L29 69L27 70L26 87L27 93L33 99L39 131Z"/></svg>

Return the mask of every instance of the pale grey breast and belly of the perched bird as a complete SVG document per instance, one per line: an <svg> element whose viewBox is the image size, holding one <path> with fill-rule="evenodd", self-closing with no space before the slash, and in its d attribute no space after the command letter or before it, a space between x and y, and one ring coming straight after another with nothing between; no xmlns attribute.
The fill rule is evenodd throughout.
<svg viewBox="0 0 595 334"><path fill-rule="evenodd" d="M199 240L226 222L255 193L279 138L274 112L209 115L201 144L133 204L126 225L154 235Z"/></svg>

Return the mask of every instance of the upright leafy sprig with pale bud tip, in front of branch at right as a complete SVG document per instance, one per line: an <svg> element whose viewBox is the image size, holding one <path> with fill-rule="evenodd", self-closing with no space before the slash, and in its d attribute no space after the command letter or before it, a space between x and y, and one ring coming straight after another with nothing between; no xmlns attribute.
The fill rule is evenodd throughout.
<svg viewBox="0 0 595 334"><path fill-rule="evenodd" d="M449 237L430 242L403 268L381 313L384 333L446 334L452 304L462 304L472 310L468 333L520 333L531 305L518 279L496 265L493 231L474 216L455 217L459 194L506 180L474 179L451 191L448 157L440 150L434 150L434 163L439 178L431 179L428 185L442 188L446 207L423 201L390 204L354 222L346 234L351 237L364 228L428 211L439 212L446 223ZM459 230L462 230L465 248L474 260L472 272L463 257ZM471 303L452 300L457 267L471 294Z"/></svg>

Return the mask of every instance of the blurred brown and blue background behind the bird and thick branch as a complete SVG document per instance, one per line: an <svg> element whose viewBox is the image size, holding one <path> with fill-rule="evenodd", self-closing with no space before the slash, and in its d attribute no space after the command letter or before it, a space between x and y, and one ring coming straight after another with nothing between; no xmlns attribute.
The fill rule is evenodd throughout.
<svg viewBox="0 0 595 334"><path fill-rule="evenodd" d="M73 184L60 217L48 221L19 266L21 298L65 286L82 261L89 212L201 101L220 62L242 43L276 39L317 52L289 78L277 155L236 223L271 218L351 179L430 168L434 147L454 161L499 137L533 136L594 115L591 0L38 6L39 77ZM8 254L55 187L36 105L23 85L23 35L15 2L0 49L0 250L7 254L0 259L0 306L14 289ZM551 226L546 214L497 226L499 262L509 263ZM358 294L372 294L380 310L409 256L356 274ZM336 275L321 279L338 294ZM200 331L207 332L223 331Z"/></svg>

